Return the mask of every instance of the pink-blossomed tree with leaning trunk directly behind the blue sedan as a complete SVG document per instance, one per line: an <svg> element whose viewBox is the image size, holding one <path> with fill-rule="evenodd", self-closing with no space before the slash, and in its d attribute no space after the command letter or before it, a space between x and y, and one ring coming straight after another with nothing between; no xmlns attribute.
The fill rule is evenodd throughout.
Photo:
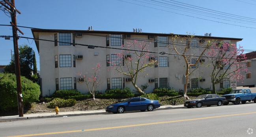
<svg viewBox="0 0 256 137"><path fill-rule="evenodd" d="M140 94L145 93L136 85L139 74L157 63L155 60L149 60L149 57L153 56L148 52L148 47L149 44L144 41L130 40L122 45L121 53L116 53L116 60L110 62L112 69L115 69L117 73L130 77L131 83Z"/></svg>

